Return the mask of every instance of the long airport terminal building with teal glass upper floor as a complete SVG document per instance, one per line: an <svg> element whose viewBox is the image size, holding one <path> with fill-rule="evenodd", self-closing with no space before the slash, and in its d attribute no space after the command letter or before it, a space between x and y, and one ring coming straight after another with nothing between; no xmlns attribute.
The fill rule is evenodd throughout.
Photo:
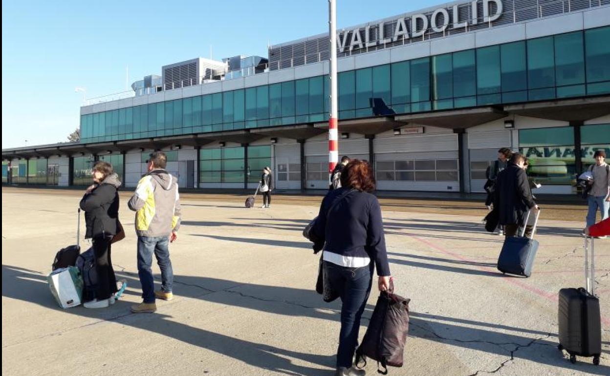
<svg viewBox="0 0 610 376"><path fill-rule="evenodd" d="M570 194L610 155L610 0L458 1L338 34L339 155L378 190L482 192L507 146L538 193ZM81 107L79 143L3 149L2 182L84 186L106 160L134 187L161 150L182 188L254 188L265 166L278 189L327 188L328 57L320 34L163 66Z"/></svg>

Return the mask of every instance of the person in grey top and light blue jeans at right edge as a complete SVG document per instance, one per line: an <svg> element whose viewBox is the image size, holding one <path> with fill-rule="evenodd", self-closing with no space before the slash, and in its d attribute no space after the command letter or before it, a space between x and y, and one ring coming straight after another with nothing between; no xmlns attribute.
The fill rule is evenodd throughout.
<svg viewBox="0 0 610 376"><path fill-rule="evenodd" d="M587 182L587 184L592 185L587 197L589 203L587 227L595 224L597 210L600 211L601 221L610 215L608 213L610 210L610 165L606 163L605 151L595 151L593 157L595 158L595 164L589 167L589 171L593 175L593 181Z"/></svg>

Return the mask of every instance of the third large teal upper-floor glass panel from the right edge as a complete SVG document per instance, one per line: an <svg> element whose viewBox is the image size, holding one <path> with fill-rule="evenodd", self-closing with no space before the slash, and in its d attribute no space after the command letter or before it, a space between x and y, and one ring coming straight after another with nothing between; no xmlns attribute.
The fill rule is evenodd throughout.
<svg viewBox="0 0 610 376"><path fill-rule="evenodd" d="M528 45L528 88L555 85L553 37L531 39Z"/></svg>

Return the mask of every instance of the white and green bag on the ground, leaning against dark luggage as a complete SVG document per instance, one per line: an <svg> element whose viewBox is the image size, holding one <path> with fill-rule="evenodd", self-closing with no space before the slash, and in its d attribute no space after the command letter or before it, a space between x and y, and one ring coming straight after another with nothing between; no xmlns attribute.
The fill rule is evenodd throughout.
<svg viewBox="0 0 610 376"><path fill-rule="evenodd" d="M76 266L57 269L46 277L51 294L62 308L76 307L82 300L82 276Z"/></svg>

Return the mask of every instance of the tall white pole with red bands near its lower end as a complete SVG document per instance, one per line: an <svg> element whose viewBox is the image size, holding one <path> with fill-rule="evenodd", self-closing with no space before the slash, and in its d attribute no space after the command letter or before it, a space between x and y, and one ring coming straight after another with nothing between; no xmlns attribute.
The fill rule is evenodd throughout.
<svg viewBox="0 0 610 376"><path fill-rule="evenodd" d="M328 34L331 42L330 65L330 87L331 96L328 118L328 180L331 183L331 172L339 162L339 131L337 129L337 4L336 0L328 0Z"/></svg>

